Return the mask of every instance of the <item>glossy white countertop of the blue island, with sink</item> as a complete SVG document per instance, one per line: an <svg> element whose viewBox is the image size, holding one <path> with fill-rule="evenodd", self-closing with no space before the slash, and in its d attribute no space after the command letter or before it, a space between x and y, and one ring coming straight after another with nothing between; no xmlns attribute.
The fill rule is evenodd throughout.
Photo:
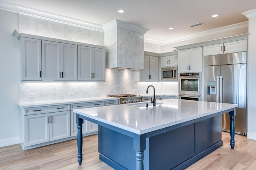
<svg viewBox="0 0 256 170"><path fill-rule="evenodd" d="M238 107L236 104L165 99L156 106L132 103L73 110L96 121L144 134Z"/></svg>

